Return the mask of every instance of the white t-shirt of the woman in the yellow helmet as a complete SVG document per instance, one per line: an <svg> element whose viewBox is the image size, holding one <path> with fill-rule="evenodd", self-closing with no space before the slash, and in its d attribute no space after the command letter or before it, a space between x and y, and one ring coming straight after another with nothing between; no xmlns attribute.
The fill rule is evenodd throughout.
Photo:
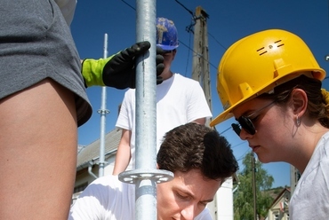
<svg viewBox="0 0 329 220"><path fill-rule="evenodd" d="M329 132L319 140L293 192L290 219L329 219Z"/></svg>

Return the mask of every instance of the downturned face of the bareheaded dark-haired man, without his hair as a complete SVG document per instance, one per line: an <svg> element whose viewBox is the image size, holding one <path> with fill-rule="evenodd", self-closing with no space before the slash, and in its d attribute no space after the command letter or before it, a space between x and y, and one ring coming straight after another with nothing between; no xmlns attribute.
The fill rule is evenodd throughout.
<svg viewBox="0 0 329 220"><path fill-rule="evenodd" d="M194 219L220 186L220 180L205 179L198 169L176 171L172 181L157 185L157 220Z"/></svg>

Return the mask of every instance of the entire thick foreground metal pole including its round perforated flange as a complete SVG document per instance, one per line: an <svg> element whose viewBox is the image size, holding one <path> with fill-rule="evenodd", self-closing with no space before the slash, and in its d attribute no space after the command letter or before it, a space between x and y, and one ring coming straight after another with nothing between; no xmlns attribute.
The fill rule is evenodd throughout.
<svg viewBox="0 0 329 220"><path fill-rule="evenodd" d="M156 169L156 1L136 0L137 42L151 43L149 52L136 64L136 169L119 179L136 185L136 220L156 219L156 183L173 173Z"/></svg>

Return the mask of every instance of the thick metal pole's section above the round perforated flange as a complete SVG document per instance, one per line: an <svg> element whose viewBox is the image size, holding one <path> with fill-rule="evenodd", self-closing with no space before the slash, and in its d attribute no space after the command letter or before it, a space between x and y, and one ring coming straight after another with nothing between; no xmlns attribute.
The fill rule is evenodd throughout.
<svg viewBox="0 0 329 220"><path fill-rule="evenodd" d="M156 169L156 1L137 0L136 12L136 40L151 43L149 54L137 64L136 169Z"/></svg>

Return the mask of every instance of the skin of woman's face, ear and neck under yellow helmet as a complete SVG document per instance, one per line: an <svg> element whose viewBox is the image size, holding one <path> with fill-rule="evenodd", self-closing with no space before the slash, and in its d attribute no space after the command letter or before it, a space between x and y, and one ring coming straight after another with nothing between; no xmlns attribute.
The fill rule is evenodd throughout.
<svg viewBox="0 0 329 220"><path fill-rule="evenodd" d="M250 135L242 129L240 138L248 141L261 162L285 161L303 172L319 138L328 129L305 114L307 97L303 90L295 89L292 94L286 106L271 105L251 117L256 133ZM232 113L237 119L253 114L270 102L253 98L237 106ZM296 125L296 115L301 118L300 126Z"/></svg>

